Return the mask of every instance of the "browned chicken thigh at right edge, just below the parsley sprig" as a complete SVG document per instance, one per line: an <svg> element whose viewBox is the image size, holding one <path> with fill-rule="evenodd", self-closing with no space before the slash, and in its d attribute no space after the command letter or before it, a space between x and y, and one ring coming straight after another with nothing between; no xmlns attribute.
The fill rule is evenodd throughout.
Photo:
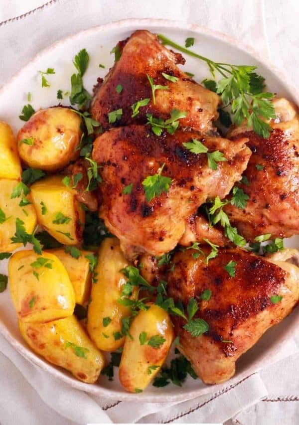
<svg viewBox="0 0 299 425"><path fill-rule="evenodd" d="M252 156L240 187L250 197L244 210L228 204L225 212L248 241L271 233L272 238L299 234L299 116L286 99L273 101L277 118L263 139L246 128L232 129L228 138L248 137Z"/></svg>

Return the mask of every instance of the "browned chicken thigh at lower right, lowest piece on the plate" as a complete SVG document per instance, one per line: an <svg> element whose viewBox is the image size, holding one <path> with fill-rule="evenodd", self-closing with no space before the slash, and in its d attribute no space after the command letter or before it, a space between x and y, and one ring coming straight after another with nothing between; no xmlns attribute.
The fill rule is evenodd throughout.
<svg viewBox="0 0 299 425"><path fill-rule="evenodd" d="M183 329L183 319L173 317L178 348L204 383L219 384L231 378L237 359L292 311L299 300L299 268L294 265L298 259L297 250L265 259L239 248L221 249L206 266L204 255L194 259L192 250L175 255L174 271L165 277L168 294L185 306L191 297L197 299L194 317L209 325L206 333L193 337ZM230 261L237 263L235 277L224 269ZM211 297L201 300L206 289L211 290ZM274 295L282 299L272 298L278 301L274 303Z"/></svg>

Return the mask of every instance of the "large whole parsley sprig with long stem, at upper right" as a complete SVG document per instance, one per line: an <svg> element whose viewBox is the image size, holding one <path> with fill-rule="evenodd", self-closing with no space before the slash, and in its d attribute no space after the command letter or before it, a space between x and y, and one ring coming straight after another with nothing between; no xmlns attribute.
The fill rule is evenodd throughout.
<svg viewBox="0 0 299 425"><path fill-rule="evenodd" d="M214 62L180 46L162 34L158 34L158 37L163 44L206 62L214 79L216 72L221 74L223 78L216 83L217 93L221 95L225 107L231 105L233 123L239 126L247 119L248 126L252 126L255 133L265 139L269 138L272 128L262 118L266 121L275 118L275 110L271 103L274 94L263 92L264 78L255 72L256 66Z"/></svg>

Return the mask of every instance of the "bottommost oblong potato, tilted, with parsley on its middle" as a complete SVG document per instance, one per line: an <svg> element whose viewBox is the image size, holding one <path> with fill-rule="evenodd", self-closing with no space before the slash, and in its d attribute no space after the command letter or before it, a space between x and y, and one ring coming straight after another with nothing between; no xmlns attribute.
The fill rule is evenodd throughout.
<svg viewBox="0 0 299 425"><path fill-rule="evenodd" d="M173 340L169 315L154 304L140 310L126 336L119 378L127 391L143 391L159 372Z"/></svg>

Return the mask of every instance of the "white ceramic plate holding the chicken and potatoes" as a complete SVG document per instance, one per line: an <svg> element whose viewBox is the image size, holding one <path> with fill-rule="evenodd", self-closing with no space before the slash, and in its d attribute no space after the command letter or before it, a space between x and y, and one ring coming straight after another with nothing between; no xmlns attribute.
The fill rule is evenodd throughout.
<svg viewBox="0 0 299 425"><path fill-rule="evenodd" d="M58 89L70 90L70 76L75 72L72 59L84 47L91 57L90 65L84 76L84 85L91 92L97 77L104 77L113 64L114 58L110 54L111 49L119 40L127 38L136 29L149 29L152 32L165 34L179 44L183 44L186 37L194 37L196 41L193 50L203 56L218 62L257 65L258 72L266 77L268 87L272 92L299 103L296 90L287 84L287 79L283 78L280 72L274 70L273 65L263 61L249 47L240 45L224 34L181 22L128 19L79 32L43 50L0 90L0 119L7 121L14 132L17 132L23 125L23 122L18 119L18 115L23 105L27 104L28 92L32 93L31 104L35 110L57 104L56 92ZM207 66L204 63L191 57L185 56L185 58L184 69L194 73L194 78L197 81L200 82L203 78L209 76ZM106 69L99 68L100 63L104 64ZM51 87L41 88L41 76L38 70L44 71L48 67L54 68L56 74L48 76ZM67 105L68 99L63 103ZM286 245L299 247L299 238L287 241ZM7 274L7 262L1 262L0 272ZM299 309L296 309L281 324L270 329L254 348L241 357L237 363L236 375L229 381L229 384L241 380L270 363L298 326ZM26 346L17 329L16 314L8 290L0 294L0 333L22 356L43 370L72 387L99 396L128 401L170 402L214 392L219 387L206 386L200 379L188 378L182 387L170 384L167 387L155 388L150 385L144 393L136 395L125 392L117 377L113 382L109 382L106 377L101 376L98 383L93 385L79 382L68 372L56 368L35 355Z"/></svg>

